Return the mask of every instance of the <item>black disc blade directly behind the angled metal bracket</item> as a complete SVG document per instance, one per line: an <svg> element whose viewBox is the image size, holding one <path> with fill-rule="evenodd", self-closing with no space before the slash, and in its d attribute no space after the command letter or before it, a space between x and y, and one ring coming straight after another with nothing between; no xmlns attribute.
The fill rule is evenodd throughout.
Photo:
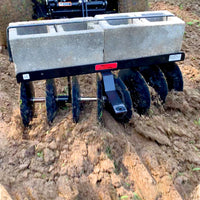
<svg viewBox="0 0 200 200"><path fill-rule="evenodd" d="M120 78L115 77L114 82L115 82L116 91L117 91L122 103L125 105L127 112L122 113L122 114L115 114L110 103L108 103L107 108L109 111L111 111L111 114L117 121L119 121L121 123L127 123L127 122L129 122L129 120L132 117L131 96L130 96L130 93L129 93L127 87L125 86L125 84L123 83L123 81Z"/></svg>

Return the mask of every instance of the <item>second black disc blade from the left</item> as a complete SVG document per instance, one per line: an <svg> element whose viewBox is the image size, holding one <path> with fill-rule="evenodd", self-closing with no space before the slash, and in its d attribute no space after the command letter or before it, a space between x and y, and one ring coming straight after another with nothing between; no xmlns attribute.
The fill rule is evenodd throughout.
<svg viewBox="0 0 200 200"><path fill-rule="evenodd" d="M53 79L46 80L46 110L47 110L47 121L53 122L58 106L56 102L56 88Z"/></svg>

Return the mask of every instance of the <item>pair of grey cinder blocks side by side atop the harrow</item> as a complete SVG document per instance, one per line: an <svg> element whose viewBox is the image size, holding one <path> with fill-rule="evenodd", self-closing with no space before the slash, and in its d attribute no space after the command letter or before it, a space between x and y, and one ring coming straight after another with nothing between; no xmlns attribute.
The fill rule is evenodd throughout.
<svg viewBox="0 0 200 200"><path fill-rule="evenodd" d="M175 16L164 17L166 14L171 13L148 11L11 23L17 26L9 31L16 74L176 53L181 49L185 23ZM123 19L127 17L138 18ZM34 24L41 26L19 27Z"/></svg>

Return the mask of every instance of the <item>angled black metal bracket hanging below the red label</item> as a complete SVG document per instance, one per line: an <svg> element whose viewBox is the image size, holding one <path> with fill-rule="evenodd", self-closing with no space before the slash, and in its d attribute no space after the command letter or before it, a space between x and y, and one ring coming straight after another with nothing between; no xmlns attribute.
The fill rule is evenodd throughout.
<svg viewBox="0 0 200 200"><path fill-rule="evenodd" d="M102 77L105 93L108 97L108 101L113 107L115 114L126 113L127 109L116 91L113 74L111 72L104 72L102 73Z"/></svg>

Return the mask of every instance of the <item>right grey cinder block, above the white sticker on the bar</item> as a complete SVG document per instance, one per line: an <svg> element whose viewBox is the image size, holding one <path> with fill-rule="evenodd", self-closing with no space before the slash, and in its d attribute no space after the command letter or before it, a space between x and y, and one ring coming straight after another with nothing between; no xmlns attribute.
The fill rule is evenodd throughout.
<svg viewBox="0 0 200 200"><path fill-rule="evenodd" d="M126 60L180 51L185 23L168 11L96 15L104 29L104 61ZM152 16L154 16L152 18ZM118 18L138 17L138 19ZM144 17L144 18L143 18ZM104 21L102 21L105 19Z"/></svg>

